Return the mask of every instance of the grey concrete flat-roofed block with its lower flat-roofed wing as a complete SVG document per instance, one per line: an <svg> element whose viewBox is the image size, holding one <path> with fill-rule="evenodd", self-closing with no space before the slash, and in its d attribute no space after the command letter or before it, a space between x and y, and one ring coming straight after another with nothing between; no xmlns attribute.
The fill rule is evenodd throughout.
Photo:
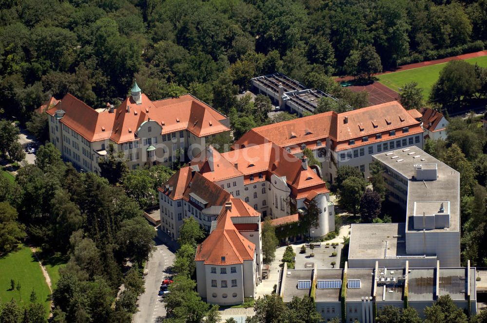
<svg viewBox="0 0 487 323"><path fill-rule="evenodd" d="M417 147L376 154L404 223L353 224L351 268L460 266L460 174ZM401 211L402 209L402 211Z"/></svg>

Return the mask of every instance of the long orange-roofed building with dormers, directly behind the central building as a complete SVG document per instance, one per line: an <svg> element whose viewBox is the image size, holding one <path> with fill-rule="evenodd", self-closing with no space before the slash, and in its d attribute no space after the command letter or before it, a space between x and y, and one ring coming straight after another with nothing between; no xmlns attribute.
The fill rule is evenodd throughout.
<svg viewBox="0 0 487 323"><path fill-rule="evenodd" d="M298 158L308 148L320 162L324 179L333 182L342 165L356 167L367 179L372 155L423 147L423 128L412 112L396 101L343 113L324 112L253 128L233 148L271 142Z"/></svg>

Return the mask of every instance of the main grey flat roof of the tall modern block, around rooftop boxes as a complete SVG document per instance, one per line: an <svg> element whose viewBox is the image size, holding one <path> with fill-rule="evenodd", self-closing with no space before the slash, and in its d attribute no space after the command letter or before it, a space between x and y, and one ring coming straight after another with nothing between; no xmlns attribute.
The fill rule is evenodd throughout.
<svg viewBox="0 0 487 323"><path fill-rule="evenodd" d="M450 201L450 227L428 231L459 231L460 173L416 146L376 154L373 158L409 179L406 210L406 229L408 232L417 231L413 229L412 223L414 202L430 201ZM413 179L415 175L414 165L416 164L436 164L437 179L427 181Z"/></svg>

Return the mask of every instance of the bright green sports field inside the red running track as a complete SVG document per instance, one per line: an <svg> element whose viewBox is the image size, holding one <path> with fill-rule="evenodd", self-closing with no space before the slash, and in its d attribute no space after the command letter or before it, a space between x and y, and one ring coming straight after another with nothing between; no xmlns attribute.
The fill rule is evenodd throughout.
<svg viewBox="0 0 487 323"><path fill-rule="evenodd" d="M470 64L479 64L481 67L487 67L487 56L474 57L465 60ZM419 88L423 89L423 97L428 99L431 92L431 86L438 80L440 71L447 63L419 67L412 70L393 72L379 75L380 83L389 89L399 92L399 88L406 83L416 82Z"/></svg>

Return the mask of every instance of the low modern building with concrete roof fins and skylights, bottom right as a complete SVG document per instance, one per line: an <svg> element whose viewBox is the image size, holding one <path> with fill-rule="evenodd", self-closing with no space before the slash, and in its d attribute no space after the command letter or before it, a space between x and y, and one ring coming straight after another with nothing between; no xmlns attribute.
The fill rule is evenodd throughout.
<svg viewBox="0 0 487 323"><path fill-rule="evenodd" d="M278 291L286 303L294 296L314 296L325 322L339 318L341 322L373 323L375 311L388 305L404 308L405 302L424 318L424 308L447 294L460 308L476 314L475 268L440 268L439 262L431 268L411 268L407 261L404 265L389 268L377 262L373 268L359 269L285 268ZM341 296L343 288L345 299Z"/></svg>

